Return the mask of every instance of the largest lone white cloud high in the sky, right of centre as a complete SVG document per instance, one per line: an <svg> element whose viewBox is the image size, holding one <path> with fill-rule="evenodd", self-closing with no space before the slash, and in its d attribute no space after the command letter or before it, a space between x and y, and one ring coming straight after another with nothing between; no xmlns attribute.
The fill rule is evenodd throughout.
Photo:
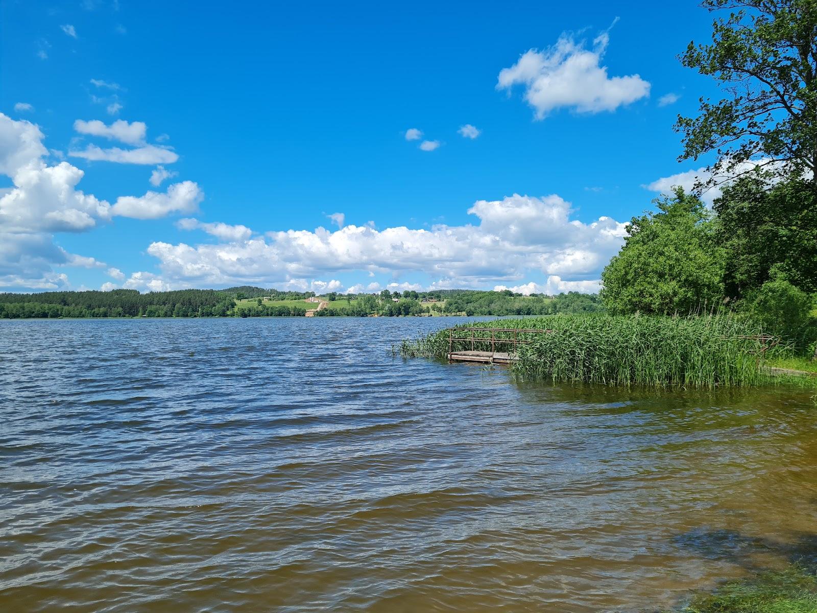
<svg viewBox="0 0 817 613"><path fill-rule="evenodd" d="M516 64L502 69L497 88L525 87L525 100L534 108L537 119L551 111L568 108L578 113L612 111L650 95L650 83L638 74L610 77L604 59L609 34L599 34L592 48L562 34L556 44L544 51L526 51Z"/></svg>

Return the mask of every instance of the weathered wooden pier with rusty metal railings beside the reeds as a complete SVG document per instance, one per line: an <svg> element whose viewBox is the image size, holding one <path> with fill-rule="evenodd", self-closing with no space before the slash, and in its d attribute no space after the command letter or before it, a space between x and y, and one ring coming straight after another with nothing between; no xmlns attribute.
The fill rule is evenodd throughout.
<svg viewBox="0 0 817 613"><path fill-rule="evenodd" d="M449 362L482 362L483 364L511 364L516 362L520 345L533 342L532 338L520 338L520 334L552 332L529 328L450 328ZM477 333L480 336L477 336ZM490 336L488 334L490 333ZM502 337L498 338L498 333ZM490 343L490 350L488 349ZM463 347L464 346L464 347ZM462 347L462 348L460 348ZM477 349L480 347L480 349ZM501 349L502 351L497 351Z"/></svg>

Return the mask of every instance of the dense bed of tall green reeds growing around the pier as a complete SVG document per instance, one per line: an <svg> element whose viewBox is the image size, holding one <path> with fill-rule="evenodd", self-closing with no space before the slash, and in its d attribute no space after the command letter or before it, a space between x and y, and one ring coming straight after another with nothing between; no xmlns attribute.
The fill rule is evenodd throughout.
<svg viewBox="0 0 817 613"><path fill-rule="evenodd" d="M786 354L783 347L775 347L764 355L761 342L753 338L762 330L731 315L552 315L467 325L548 330L518 333L529 344L520 346L519 361L512 368L525 379L655 387L752 386L769 383L773 376L764 369L766 360ZM471 333L454 328L454 334L467 338ZM491 343L455 343L458 347L490 351ZM448 348L449 332L441 330L403 342L397 350L406 357L444 358Z"/></svg>

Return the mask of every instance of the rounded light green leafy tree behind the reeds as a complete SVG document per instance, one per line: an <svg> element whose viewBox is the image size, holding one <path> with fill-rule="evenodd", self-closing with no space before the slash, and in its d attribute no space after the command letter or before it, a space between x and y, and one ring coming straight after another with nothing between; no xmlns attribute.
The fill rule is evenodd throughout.
<svg viewBox="0 0 817 613"><path fill-rule="evenodd" d="M625 244L601 273L613 313L687 314L721 300L724 250L700 199L676 188L659 211L633 217Z"/></svg>

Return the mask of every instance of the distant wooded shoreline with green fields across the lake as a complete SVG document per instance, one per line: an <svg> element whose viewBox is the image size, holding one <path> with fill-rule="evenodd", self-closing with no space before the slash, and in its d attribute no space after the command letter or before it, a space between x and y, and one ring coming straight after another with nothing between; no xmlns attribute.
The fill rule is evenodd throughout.
<svg viewBox="0 0 817 613"><path fill-rule="evenodd" d="M0 319L60 317L257 317L302 316L305 309L280 304L303 301L314 292L281 292L240 286L228 289L181 289L173 292L139 293L136 289L109 292L0 293ZM258 298L260 304L236 308L237 300ZM265 305L261 298L278 303ZM603 311L596 294L576 292L548 297L522 296L510 290L482 292L443 289L433 292L383 290L379 294L337 294L324 297L332 309L317 311L319 316L368 315L551 315Z"/></svg>

